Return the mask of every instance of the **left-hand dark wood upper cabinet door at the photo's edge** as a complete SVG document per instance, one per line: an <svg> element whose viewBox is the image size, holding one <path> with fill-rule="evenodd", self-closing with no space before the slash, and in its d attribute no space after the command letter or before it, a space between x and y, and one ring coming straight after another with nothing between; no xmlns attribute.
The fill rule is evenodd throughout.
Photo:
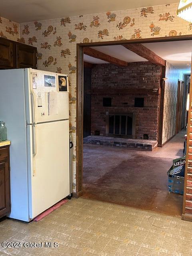
<svg viewBox="0 0 192 256"><path fill-rule="evenodd" d="M14 68L13 42L0 38L0 68Z"/></svg>

